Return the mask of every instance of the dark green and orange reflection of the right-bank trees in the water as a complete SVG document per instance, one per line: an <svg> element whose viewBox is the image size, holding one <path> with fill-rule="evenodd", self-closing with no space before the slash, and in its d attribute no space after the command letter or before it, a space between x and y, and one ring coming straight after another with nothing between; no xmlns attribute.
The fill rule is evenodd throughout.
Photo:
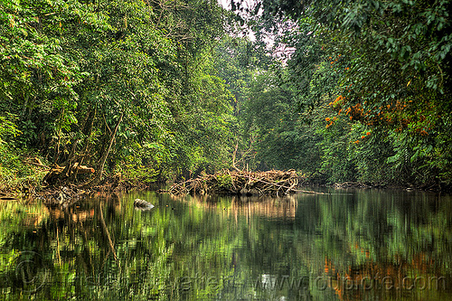
<svg viewBox="0 0 452 301"><path fill-rule="evenodd" d="M415 278L435 284L446 276L450 281L450 269L445 265L450 261L451 248L447 234L451 230L450 198L426 197L425 193L357 192L332 195L321 202L320 208L318 229L323 235L315 241L315 249L325 254L325 275L336 281L331 287L340 299L363 299L363 278L380 277L381 281L388 277L394 281L393 287L402 288L403 279L408 279L405 288ZM341 278L343 283L348 279L360 284L360 289L344 290L337 285ZM440 286L443 284L440 282ZM443 299L441 293L450 293L450 288L436 288L422 294L418 291L411 298ZM373 289L372 294L391 298L395 291Z"/></svg>

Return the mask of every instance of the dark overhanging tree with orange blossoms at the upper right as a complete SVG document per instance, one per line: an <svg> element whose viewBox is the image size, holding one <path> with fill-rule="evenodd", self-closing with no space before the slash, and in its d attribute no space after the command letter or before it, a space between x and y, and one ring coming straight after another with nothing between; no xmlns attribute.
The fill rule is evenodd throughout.
<svg viewBox="0 0 452 301"><path fill-rule="evenodd" d="M450 175L450 6L449 1L264 0L249 11L264 19L261 31L283 34L277 41L295 48L287 64L299 109L330 103L325 118L335 114L348 128L337 139L348 136L353 144L359 136L350 129L365 134L373 127L384 133L383 141L372 136L365 145L380 155L378 165L411 170L398 178L401 182L438 185L448 183ZM245 6L236 2L236 7ZM291 33L279 31L284 24L295 24ZM381 152L381 146L390 149ZM354 147L345 157L355 157L353 165L359 165L351 152Z"/></svg>

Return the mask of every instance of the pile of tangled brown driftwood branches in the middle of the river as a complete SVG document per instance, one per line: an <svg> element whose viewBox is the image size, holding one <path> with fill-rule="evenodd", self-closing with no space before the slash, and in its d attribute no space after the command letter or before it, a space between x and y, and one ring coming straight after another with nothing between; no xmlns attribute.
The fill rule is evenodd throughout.
<svg viewBox="0 0 452 301"><path fill-rule="evenodd" d="M276 195L288 193L314 193L297 190L298 175L295 170L246 172L221 171L203 174L184 183L175 183L169 193L181 194L237 194Z"/></svg>

